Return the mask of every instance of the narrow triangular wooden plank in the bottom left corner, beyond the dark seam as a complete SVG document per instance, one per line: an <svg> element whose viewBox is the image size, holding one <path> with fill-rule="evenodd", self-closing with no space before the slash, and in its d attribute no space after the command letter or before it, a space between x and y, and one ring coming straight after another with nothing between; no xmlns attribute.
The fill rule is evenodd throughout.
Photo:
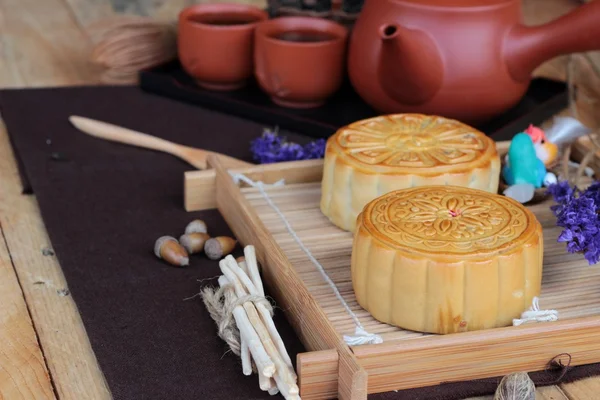
<svg viewBox="0 0 600 400"><path fill-rule="evenodd" d="M0 399L54 399L23 292L0 231Z"/></svg>

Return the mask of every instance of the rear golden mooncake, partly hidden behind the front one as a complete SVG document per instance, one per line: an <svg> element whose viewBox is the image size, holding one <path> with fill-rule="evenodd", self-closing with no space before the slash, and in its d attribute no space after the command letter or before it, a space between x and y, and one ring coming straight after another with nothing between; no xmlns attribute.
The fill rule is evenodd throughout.
<svg viewBox="0 0 600 400"><path fill-rule="evenodd" d="M500 157L495 142L461 122L394 114L355 122L328 141L321 211L354 231L365 204L392 190L455 185L497 193Z"/></svg>

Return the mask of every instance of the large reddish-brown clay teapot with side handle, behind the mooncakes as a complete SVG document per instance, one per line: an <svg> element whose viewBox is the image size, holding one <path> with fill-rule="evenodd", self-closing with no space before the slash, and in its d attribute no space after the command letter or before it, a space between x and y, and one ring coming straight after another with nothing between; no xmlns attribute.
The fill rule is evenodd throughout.
<svg viewBox="0 0 600 400"><path fill-rule="evenodd" d="M350 80L382 114L484 122L519 102L544 61L600 49L600 0L540 26L521 19L519 0L365 0Z"/></svg>

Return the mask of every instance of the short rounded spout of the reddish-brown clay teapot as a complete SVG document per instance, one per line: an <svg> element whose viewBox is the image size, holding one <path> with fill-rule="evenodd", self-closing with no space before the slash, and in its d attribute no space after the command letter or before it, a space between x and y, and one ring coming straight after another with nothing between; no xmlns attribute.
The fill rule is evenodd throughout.
<svg viewBox="0 0 600 400"><path fill-rule="evenodd" d="M444 69L436 43L425 32L398 25L380 27L381 58L378 79L395 101L419 105L442 86Z"/></svg>

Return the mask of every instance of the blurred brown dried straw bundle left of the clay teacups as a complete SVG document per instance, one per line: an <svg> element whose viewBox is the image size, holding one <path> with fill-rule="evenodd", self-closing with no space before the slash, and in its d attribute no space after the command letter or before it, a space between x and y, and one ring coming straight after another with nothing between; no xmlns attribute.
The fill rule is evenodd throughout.
<svg viewBox="0 0 600 400"><path fill-rule="evenodd" d="M104 83L135 83L139 71L177 56L176 26L168 22L120 16L100 21L90 31L96 43L91 59L104 68Z"/></svg>

